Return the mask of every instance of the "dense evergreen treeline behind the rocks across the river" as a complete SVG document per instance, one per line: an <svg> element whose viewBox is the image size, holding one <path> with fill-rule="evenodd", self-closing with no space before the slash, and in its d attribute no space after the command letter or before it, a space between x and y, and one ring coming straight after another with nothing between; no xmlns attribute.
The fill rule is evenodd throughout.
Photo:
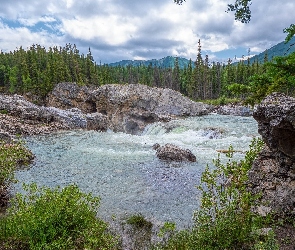
<svg viewBox="0 0 295 250"><path fill-rule="evenodd" d="M280 59L280 67L284 60ZM96 64L90 48L84 55L72 44L66 44L65 47L50 47L48 50L41 45L32 45L26 50L20 47L10 53L0 53L0 88L2 92L29 92L45 97L59 82L96 86L110 83L140 83L152 87L171 88L194 100L220 97L243 99L251 95L255 89L253 79L264 82L260 84L263 88L266 87L265 81L272 81L269 76L271 67L266 63L267 55L264 61L264 64L257 61L250 63L249 60L237 64L233 64L231 60L226 64L210 63L207 55L202 56L199 41L196 61L190 60L184 69L179 67L177 58L173 68L152 65L111 67ZM294 67L294 64L293 62L291 67Z"/></svg>

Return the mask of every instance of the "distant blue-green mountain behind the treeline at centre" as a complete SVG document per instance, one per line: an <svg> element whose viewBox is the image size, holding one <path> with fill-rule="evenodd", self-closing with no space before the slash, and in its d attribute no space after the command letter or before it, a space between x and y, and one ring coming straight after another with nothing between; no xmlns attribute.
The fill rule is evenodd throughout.
<svg viewBox="0 0 295 250"><path fill-rule="evenodd" d="M115 62L115 63L110 63L108 64L109 66L112 67L116 67L116 66L140 66L140 65L144 65L144 66L153 66L153 67L160 67L160 68L173 68L174 64L175 64L175 60L176 57L173 56L166 56L162 59L151 59L151 60L122 60L119 62ZM183 68L187 68L188 64L189 64L188 59L186 58L182 58L182 57L178 57L178 65L179 68L183 69ZM192 62L193 64L193 62Z"/></svg>

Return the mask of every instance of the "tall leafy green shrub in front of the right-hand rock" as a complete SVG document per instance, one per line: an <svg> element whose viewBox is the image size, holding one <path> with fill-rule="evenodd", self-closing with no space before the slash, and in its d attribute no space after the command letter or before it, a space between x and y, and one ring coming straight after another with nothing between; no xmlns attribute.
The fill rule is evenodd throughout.
<svg viewBox="0 0 295 250"><path fill-rule="evenodd" d="M214 160L215 168L206 168L198 186L202 196L194 227L176 232L155 249L277 249L273 234L258 233L264 221L252 212L258 197L247 189L247 173L262 146L260 139L254 139L240 162L232 159L232 147L226 163L220 156Z"/></svg>

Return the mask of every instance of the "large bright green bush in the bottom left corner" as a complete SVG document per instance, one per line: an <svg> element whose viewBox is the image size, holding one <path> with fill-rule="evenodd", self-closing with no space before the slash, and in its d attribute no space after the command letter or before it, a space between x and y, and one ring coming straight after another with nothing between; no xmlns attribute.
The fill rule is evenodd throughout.
<svg viewBox="0 0 295 250"><path fill-rule="evenodd" d="M24 190L27 194L17 194L0 220L2 245L16 242L31 250L116 249L117 239L96 218L99 198L75 185L49 189L31 184Z"/></svg>

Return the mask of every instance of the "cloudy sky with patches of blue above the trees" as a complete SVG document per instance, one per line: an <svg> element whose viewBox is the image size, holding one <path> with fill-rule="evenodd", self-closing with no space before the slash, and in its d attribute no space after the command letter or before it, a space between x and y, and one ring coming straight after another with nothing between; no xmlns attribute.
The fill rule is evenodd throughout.
<svg viewBox="0 0 295 250"><path fill-rule="evenodd" d="M96 62L195 60L198 41L210 61L259 54L295 23L294 0L253 0L248 24L226 13L234 0L0 0L0 50L76 44Z"/></svg>

